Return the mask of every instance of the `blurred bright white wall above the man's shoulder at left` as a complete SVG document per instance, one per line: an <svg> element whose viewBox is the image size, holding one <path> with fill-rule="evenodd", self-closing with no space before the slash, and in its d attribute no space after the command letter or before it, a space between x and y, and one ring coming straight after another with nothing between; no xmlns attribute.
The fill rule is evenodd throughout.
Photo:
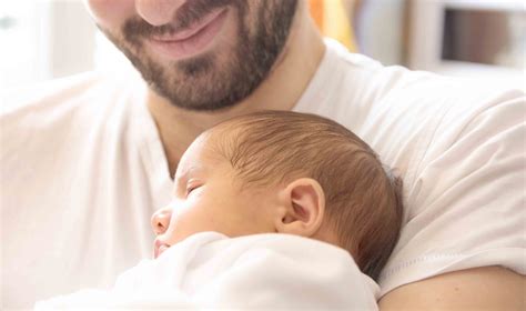
<svg viewBox="0 0 526 311"><path fill-rule="evenodd" d="M0 89L93 69L97 32L80 0L0 0Z"/></svg>

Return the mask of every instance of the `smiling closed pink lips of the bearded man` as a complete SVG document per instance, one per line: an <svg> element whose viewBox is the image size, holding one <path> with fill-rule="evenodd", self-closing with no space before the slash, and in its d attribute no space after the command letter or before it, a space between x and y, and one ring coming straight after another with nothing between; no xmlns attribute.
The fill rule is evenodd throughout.
<svg viewBox="0 0 526 311"><path fill-rule="evenodd" d="M154 50L172 60L192 57L210 46L221 31L226 14L226 8L214 10L184 30L152 36L150 43Z"/></svg>

